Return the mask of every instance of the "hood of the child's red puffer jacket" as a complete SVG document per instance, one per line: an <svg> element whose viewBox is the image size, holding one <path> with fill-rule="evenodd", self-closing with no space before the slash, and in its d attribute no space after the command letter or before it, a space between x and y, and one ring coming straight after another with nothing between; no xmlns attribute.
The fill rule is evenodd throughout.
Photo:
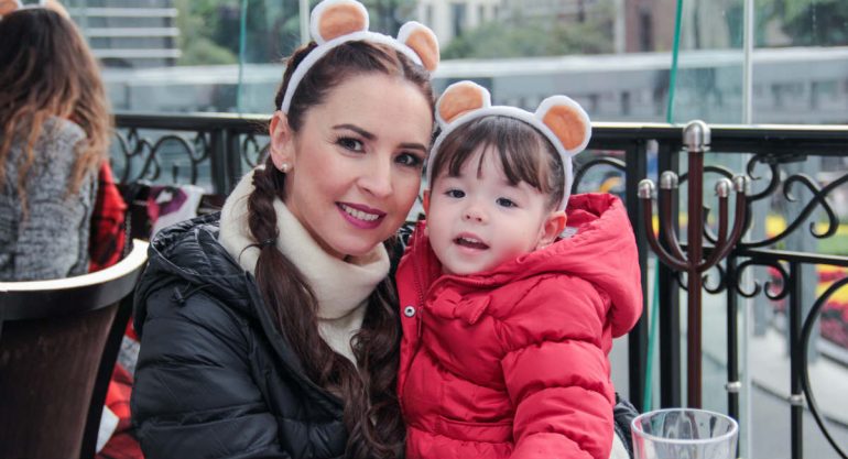
<svg viewBox="0 0 848 459"><path fill-rule="evenodd" d="M627 334L642 314L642 282L627 209L609 194L573 195L568 200L567 231L572 236L483 273L450 276L457 283L497 287L547 273L574 275L609 295L608 315L612 336ZM432 285L442 273L430 241L420 223L409 251L424 261L421 285ZM423 252L422 252L423 251Z"/></svg>

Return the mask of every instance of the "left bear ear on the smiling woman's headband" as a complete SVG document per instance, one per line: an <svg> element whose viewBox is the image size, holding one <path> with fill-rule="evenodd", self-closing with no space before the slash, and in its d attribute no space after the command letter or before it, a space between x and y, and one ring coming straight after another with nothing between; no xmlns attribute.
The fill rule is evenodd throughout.
<svg viewBox="0 0 848 459"><path fill-rule="evenodd" d="M358 1L325 0L312 10L309 32L318 44L367 30L368 10Z"/></svg>

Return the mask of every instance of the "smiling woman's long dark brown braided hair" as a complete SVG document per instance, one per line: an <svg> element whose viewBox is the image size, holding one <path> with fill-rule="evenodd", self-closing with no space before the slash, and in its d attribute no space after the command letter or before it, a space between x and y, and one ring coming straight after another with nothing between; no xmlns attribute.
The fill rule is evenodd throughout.
<svg viewBox="0 0 848 459"><path fill-rule="evenodd" d="M311 43L289 59L275 107L280 107L294 68L314 47L315 43ZM349 42L327 53L301 80L289 109L290 128L297 132L305 113L322 103L336 86L356 75L372 73L414 84L432 108L430 74L423 67L391 47ZM248 225L257 241L285 237L279 234L273 208L275 198L285 199L284 184L285 174L273 166L270 157L264 170L253 173L256 189L248 199ZM320 386L339 393L345 403L343 420L349 431L345 457L402 456L405 426L395 393L401 336L391 280L384 280L369 297L362 327L351 340L357 368L334 352L318 335L318 303L292 260L273 245L264 245L257 261L256 276L267 306L301 358L307 375Z"/></svg>

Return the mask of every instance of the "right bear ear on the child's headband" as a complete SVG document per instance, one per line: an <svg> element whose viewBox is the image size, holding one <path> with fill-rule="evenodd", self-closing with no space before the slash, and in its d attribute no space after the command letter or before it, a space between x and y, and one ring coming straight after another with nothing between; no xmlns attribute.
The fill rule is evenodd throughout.
<svg viewBox="0 0 848 459"><path fill-rule="evenodd" d="M539 105L535 116L559 139L569 156L581 152L589 144L589 116L572 98L548 97Z"/></svg>

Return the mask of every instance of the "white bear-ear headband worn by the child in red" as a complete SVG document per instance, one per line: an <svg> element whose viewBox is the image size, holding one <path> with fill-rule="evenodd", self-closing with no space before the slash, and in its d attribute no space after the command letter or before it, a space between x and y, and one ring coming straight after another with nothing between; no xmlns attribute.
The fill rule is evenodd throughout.
<svg viewBox="0 0 848 459"><path fill-rule="evenodd" d="M535 128L556 147L563 162L565 186L559 210L565 210L572 188L572 156L581 152L591 138L591 123L586 111L566 96L551 96L534 113L517 107L492 106L491 95L471 81L455 83L445 89L436 102L436 120L442 132L427 159L427 184L433 183L433 163L442 142L460 125L482 117L509 117ZM430 186L430 185L428 185Z"/></svg>

